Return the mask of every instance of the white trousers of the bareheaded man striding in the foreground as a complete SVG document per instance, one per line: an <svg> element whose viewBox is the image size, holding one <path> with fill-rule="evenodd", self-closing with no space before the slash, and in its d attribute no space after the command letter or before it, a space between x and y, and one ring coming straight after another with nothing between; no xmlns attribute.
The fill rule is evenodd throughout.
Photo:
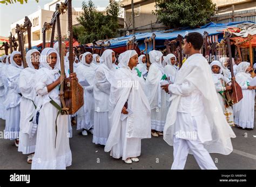
<svg viewBox="0 0 256 187"><path fill-rule="evenodd" d="M185 140L173 136L173 163L171 169L184 169L188 152L194 155L201 169L218 169L199 140Z"/></svg>

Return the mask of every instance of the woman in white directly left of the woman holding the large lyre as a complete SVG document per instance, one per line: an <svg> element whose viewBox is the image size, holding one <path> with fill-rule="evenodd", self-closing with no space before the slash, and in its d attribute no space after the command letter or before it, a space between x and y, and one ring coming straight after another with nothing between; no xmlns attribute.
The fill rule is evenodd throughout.
<svg viewBox="0 0 256 187"><path fill-rule="evenodd" d="M32 124L32 118L36 111L37 94L33 77L39 69L40 53L37 49L31 49L26 53L26 63L28 68L21 71L19 76L19 90L21 90L21 120L19 123L19 147L18 152L30 154L27 162L32 163L33 153L36 149L35 125Z"/></svg>

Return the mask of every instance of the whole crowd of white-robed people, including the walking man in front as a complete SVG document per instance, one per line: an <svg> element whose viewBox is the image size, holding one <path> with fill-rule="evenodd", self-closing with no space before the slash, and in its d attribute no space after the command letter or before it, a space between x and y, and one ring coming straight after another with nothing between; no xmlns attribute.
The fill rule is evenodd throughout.
<svg viewBox="0 0 256 187"><path fill-rule="evenodd" d="M145 55L129 50L101 56L73 54L74 73L84 89L84 105L73 115L59 114L60 56L58 42L41 53L20 52L2 56L0 63L0 118L4 138L15 140L18 152L28 154L31 169L66 169L72 163L69 138L72 125L92 142L103 145L110 156L130 164L138 162L141 140L163 136L173 146L172 169L184 169L193 153L201 169L217 169L209 153L232 152L232 126L253 129L254 89L249 83L250 63L235 59L235 79L244 98L231 105L225 93L232 89L228 59L209 65L200 54L203 38L188 33L184 39L186 61L177 66L174 54L160 51ZM63 45L64 46L64 45Z"/></svg>

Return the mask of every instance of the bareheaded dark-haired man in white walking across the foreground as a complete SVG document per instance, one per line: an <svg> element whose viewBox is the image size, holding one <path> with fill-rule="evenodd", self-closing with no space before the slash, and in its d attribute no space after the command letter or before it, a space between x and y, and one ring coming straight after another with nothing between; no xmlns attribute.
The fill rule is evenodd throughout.
<svg viewBox="0 0 256 187"><path fill-rule="evenodd" d="M173 146L172 169L184 169L188 153L201 169L217 169L209 153L227 155L233 150L235 134L218 102L211 68L200 54L202 45L200 33L185 36L184 53L189 57L176 81L162 86L171 93L164 140Z"/></svg>

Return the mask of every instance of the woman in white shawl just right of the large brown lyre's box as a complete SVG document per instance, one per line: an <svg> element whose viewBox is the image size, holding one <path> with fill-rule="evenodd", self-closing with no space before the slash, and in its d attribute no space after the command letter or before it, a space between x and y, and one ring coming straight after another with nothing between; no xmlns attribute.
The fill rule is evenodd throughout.
<svg viewBox="0 0 256 187"><path fill-rule="evenodd" d="M87 131L93 134L94 120L94 97L93 80L95 69L91 66L92 54L86 52L82 56L80 65L77 67L77 78L79 82L87 81L89 85L84 88L84 105L77 112L77 130L83 130L82 134L87 135Z"/></svg>

